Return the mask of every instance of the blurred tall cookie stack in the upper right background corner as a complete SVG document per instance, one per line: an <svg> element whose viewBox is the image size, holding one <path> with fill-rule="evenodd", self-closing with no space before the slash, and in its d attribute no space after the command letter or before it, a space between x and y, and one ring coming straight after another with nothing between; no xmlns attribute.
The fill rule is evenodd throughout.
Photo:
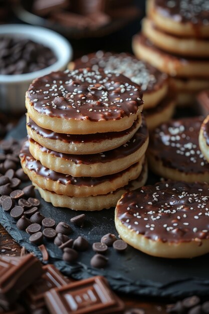
<svg viewBox="0 0 209 314"><path fill-rule="evenodd" d="M148 0L133 51L171 76L178 105L209 87L209 10L205 0Z"/></svg>

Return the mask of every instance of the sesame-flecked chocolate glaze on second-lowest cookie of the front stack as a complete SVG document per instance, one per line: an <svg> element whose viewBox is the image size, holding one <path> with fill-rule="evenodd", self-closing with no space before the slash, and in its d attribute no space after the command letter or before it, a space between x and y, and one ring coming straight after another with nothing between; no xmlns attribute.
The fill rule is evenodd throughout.
<svg viewBox="0 0 209 314"><path fill-rule="evenodd" d="M57 181L63 185L75 185L75 186L88 186L93 187L106 181L112 181L120 177L125 172L129 171L131 168L135 167L136 164L130 166L117 174L103 176L103 177L72 177L70 175L61 174L50 170L42 164L35 160L29 151L29 142L26 141L21 149L20 158L22 161L26 162L26 168L30 171L35 172L37 175L47 178L48 180Z"/></svg>

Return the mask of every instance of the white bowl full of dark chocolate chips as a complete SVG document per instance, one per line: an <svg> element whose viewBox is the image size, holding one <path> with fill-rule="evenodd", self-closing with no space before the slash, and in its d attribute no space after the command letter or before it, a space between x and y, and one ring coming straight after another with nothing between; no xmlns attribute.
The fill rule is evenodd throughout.
<svg viewBox="0 0 209 314"><path fill-rule="evenodd" d="M19 24L0 26L0 108L24 111L30 83L64 70L71 59L70 43L54 31Z"/></svg>

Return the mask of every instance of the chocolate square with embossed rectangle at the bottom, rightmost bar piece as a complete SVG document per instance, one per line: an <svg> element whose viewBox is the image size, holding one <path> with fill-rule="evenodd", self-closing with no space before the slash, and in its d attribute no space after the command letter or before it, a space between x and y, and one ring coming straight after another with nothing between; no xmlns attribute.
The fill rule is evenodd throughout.
<svg viewBox="0 0 209 314"><path fill-rule="evenodd" d="M45 294L51 314L120 313L123 302L111 291L102 276L70 283Z"/></svg>

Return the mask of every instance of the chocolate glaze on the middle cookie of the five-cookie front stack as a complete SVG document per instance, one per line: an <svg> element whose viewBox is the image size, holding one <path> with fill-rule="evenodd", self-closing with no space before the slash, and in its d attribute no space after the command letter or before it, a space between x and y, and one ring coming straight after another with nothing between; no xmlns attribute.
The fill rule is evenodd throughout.
<svg viewBox="0 0 209 314"><path fill-rule="evenodd" d="M109 163L113 160L118 160L124 158L125 156L131 155L145 143L145 141L148 138L148 135L149 134L146 122L145 119L143 118L140 128L130 140L128 140L125 144L119 146L118 148L108 150L105 152L87 155L66 154L45 148L40 144L38 145L42 152L46 152L58 158L72 161L77 165L78 164L91 165L96 163ZM29 138L29 141L35 142L32 138Z"/></svg>

